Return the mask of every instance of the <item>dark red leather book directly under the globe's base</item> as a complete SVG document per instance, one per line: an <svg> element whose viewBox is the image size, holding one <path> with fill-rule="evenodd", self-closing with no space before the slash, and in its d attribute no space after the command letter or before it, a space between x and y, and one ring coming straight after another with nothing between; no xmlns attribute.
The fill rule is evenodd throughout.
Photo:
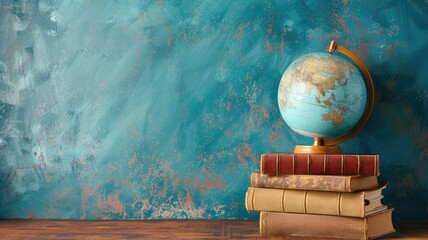
<svg viewBox="0 0 428 240"><path fill-rule="evenodd" d="M260 161L267 175L379 176L379 155L266 153Z"/></svg>

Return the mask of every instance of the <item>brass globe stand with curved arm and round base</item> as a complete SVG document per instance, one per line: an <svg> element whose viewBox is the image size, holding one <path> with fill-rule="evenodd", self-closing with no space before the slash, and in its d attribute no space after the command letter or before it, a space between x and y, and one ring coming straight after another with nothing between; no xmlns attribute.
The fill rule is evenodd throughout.
<svg viewBox="0 0 428 240"><path fill-rule="evenodd" d="M328 52L333 53L335 50L344 54L345 56L350 58L352 61L354 61L360 68L361 72L363 73L364 81L366 84L366 90L367 90L366 109L364 110L364 113L360 121L358 121L357 125L355 125L355 127L347 134L340 136L338 138L328 139L328 140L324 140L322 138L314 138L313 146L297 145L294 148L295 154L340 154L342 153L340 146L336 146L336 145L348 140L349 138L357 134L364 127L373 110L374 86L373 86L372 77L370 76L370 73L367 70L367 67L364 65L363 61L361 61L361 59L358 58L358 56L355 55L353 52L349 51L344 47L337 45L336 41L331 41Z"/></svg>

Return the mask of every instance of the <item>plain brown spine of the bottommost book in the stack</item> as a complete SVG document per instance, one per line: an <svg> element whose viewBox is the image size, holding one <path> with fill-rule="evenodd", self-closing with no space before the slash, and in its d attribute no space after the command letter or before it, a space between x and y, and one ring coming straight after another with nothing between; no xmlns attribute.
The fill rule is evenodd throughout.
<svg viewBox="0 0 428 240"><path fill-rule="evenodd" d="M366 218L295 213L260 213L260 234L367 239Z"/></svg>

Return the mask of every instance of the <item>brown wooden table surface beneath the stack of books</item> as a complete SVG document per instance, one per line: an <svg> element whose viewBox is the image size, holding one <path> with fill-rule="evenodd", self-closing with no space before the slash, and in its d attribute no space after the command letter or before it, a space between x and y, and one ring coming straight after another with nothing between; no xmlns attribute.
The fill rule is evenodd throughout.
<svg viewBox="0 0 428 240"><path fill-rule="evenodd" d="M395 223L381 239L428 239L428 223ZM254 220L0 220L0 239L299 239L261 236Z"/></svg>

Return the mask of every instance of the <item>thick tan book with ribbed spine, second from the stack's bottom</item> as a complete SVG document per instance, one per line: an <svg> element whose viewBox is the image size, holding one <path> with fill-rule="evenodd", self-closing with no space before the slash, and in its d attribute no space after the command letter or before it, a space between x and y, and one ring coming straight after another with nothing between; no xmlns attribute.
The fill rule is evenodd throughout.
<svg viewBox="0 0 428 240"><path fill-rule="evenodd" d="M382 189L353 192L325 192L295 189L249 187L245 207L248 211L289 212L365 217L386 209L380 199Z"/></svg>

